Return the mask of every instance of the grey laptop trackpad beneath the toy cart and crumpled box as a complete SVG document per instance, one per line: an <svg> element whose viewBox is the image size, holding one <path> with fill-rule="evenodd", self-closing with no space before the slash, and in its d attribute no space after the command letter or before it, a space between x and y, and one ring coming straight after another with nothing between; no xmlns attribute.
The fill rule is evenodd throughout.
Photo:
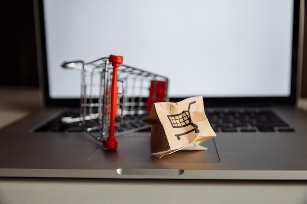
<svg viewBox="0 0 307 204"><path fill-rule="evenodd" d="M157 159L150 152L150 135L135 133L117 138L118 148L107 150L99 146L88 162L157 162L157 163L218 163L220 162L215 140L209 139L202 143L207 150L181 150L162 159Z"/></svg>

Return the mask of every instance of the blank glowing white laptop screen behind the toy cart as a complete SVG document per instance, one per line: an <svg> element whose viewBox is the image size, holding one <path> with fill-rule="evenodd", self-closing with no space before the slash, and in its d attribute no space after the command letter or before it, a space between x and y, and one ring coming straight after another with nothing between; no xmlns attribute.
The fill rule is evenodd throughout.
<svg viewBox="0 0 307 204"><path fill-rule="evenodd" d="M170 97L286 98L294 7L293 0L44 0L50 98L80 95L80 72L62 62L110 54L168 77Z"/></svg>

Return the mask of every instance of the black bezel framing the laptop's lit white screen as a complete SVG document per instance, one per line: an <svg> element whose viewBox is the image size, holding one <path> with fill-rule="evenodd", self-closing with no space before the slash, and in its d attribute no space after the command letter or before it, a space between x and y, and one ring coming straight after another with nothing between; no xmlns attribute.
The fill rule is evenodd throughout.
<svg viewBox="0 0 307 204"><path fill-rule="evenodd" d="M59 99L50 96L43 0L34 0L33 4L40 88L43 92L44 105L45 107L78 107L79 98ZM205 106L222 107L226 104L227 106L294 105L297 91L299 12L300 0L294 0L290 95L281 97L204 97ZM170 98L170 101L176 102L182 99L183 98Z"/></svg>

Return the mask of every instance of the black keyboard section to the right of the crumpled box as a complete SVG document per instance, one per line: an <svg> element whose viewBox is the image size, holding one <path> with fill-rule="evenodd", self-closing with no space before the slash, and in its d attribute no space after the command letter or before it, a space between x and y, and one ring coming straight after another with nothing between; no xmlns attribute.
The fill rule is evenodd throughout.
<svg viewBox="0 0 307 204"><path fill-rule="evenodd" d="M270 110L208 109L205 113L215 132L294 132Z"/></svg>

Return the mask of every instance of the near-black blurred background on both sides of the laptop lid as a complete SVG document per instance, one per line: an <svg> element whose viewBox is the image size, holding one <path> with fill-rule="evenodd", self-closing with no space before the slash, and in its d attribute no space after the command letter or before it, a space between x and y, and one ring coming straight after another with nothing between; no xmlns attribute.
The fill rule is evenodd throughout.
<svg viewBox="0 0 307 204"><path fill-rule="evenodd" d="M38 87L32 0L6 1L3 6L0 86ZM307 5L305 4L305 10ZM307 15L305 15L307 22ZM307 26L305 26L307 39ZM302 96L307 97L307 40L304 42Z"/></svg>

